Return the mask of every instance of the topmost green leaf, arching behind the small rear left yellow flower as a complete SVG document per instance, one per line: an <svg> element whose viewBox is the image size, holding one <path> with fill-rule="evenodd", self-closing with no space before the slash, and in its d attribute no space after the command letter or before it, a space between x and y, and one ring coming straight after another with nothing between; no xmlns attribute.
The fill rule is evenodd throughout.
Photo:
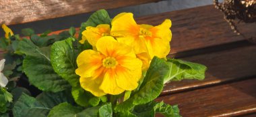
<svg viewBox="0 0 256 117"><path fill-rule="evenodd" d="M86 23L82 23L79 31L79 39L82 39L82 31L86 29L88 26L96 27L99 24L109 24L111 23L111 19L108 15L108 12L104 9L100 9L89 17Z"/></svg>

